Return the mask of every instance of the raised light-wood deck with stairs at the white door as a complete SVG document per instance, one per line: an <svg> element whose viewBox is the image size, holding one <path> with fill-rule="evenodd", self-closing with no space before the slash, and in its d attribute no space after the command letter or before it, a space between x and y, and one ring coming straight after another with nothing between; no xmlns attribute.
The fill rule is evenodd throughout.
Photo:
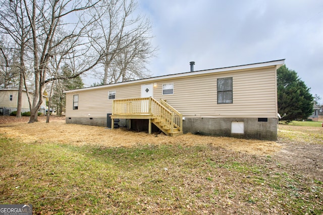
<svg viewBox="0 0 323 215"><path fill-rule="evenodd" d="M169 136L183 133L183 115L166 101L151 97L114 100L111 119L148 119L148 133L151 123Z"/></svg>

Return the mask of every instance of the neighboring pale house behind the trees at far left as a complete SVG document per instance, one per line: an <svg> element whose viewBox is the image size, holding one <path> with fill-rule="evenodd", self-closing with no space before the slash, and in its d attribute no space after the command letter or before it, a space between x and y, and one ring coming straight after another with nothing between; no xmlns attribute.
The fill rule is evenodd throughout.
<svg viewBox="0 0 323 215"><path fill-rule="evenodd" d="M9 115L13 111L17 111L18 105L18 89L0 89L0 115ZM31 100L33 99L33 93L29 93ZM43 103L39 108L39 112L45 113L46 97L43 97ZM22 92L21 112L28 112L29 102L27 93L25 90Z"/></svg>

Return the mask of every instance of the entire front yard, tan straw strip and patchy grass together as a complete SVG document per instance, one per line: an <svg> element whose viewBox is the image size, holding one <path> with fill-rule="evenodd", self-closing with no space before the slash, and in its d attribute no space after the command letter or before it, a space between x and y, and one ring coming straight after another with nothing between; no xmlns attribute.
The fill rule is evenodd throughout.
<svg viewBox="0 0 323 215"><path fill-rule="evenodd" d="M268 142L0 123L0 202L35 214L321 214L321 160L308 160L322 145L303 156L310 146L295 151L298 131L285 128Z"/></svg>

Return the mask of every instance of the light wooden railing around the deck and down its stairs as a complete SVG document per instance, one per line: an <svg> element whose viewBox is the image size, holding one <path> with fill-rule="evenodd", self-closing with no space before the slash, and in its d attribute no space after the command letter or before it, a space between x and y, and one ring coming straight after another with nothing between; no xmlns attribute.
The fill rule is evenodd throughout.
<svg viewBox="0 0 323 215"><path fill-rule="evenodd" d="M164 123L170 132L174 127L183 131L182 114L164 100L161 103L154 98L120 99L113 101L113 115L151 115L152 118Z"/></svg>

